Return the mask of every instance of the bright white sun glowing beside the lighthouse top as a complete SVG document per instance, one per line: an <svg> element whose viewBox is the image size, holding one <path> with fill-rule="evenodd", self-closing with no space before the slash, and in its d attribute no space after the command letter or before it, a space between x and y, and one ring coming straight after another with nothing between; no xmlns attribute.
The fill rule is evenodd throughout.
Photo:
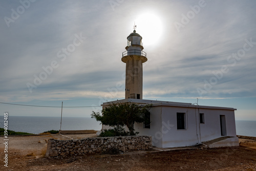
<svg viewBox="0 0 256 171"><path fill-rule="evenodd" d="M143 13L135 20L136 32L142 36L144 46L157 44L163 32L160 18L150 12Z"/></svg>

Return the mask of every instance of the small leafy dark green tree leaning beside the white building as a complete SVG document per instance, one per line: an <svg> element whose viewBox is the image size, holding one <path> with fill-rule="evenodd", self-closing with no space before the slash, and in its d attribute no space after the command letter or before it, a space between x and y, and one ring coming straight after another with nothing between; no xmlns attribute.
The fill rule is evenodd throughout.
<svg viewBox="0 0 256 171"><path fill-rule="evenodd" d="M130 135L135 135L134 123L150 122L145 115L150 113L151 108L152 104L112 103L101 111L102 115L93 111L91 117L104 125L113 127L126 125Z"/></svg>

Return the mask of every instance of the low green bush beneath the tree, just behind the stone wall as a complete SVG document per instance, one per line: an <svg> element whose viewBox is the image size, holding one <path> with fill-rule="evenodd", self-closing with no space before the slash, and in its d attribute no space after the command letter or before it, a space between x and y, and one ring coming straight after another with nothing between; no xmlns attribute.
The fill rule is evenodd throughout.
<svg viewBox="0 0 256 171"><path fill-rule="evenodd" d="M99 137L120 137L120 136L132 136L138 133L126 132L122 126L116 126L114 129L104 130L100 133Z"/></svg>

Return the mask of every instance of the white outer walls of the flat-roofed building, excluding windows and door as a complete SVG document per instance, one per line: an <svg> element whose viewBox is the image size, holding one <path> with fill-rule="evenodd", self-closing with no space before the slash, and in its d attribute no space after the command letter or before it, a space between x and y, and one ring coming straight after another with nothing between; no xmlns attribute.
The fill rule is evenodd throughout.
<svg viewBox="0 0 256 171"><path fill-rule="evenodd" d="M177 129L177 113L185 113L185 130ZM204 123L200 123L199 113L204 113ZM236 137L232 110L153 106L151 128L135 124L135 130L139 135L151 135L157 147L191 146L221 137L220 115L225 115L226 136Z"/></svg>

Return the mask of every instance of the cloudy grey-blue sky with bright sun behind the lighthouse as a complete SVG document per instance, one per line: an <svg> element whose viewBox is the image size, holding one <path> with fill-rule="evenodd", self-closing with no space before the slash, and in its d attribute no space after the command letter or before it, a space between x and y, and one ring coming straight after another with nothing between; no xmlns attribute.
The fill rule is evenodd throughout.
<svg viewBox="0 0 256 171"><path fill-rule="evenodd" d="M143 39L143 99L238 109L256 120L255 1L1 1L0 102L89 117L124 98L121 61ZM92 107L94 106L94 107ZM0 103L15 116L60 108Z"/></svg>

